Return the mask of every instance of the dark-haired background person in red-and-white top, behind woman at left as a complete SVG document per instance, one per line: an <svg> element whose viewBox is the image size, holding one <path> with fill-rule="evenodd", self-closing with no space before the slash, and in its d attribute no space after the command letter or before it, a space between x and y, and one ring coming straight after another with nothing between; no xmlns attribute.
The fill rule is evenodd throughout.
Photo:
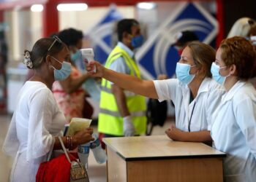
<svg viewBox="0 0 256 182"><path fill-rule="evenodd" d="M67 44L69 48L72 68L71 74L67 79L53 83L53 96L61 108L61 111L64 112L67 123L69 123L73 117L91 118L93 108L86 101L86 91L81 87L90 76L89 74L81 73L76 67L76 65L82 61L82 58L79 58L79 49L82 47L83 33L74 28L69 28L60 31L59 38Z"/></svg>

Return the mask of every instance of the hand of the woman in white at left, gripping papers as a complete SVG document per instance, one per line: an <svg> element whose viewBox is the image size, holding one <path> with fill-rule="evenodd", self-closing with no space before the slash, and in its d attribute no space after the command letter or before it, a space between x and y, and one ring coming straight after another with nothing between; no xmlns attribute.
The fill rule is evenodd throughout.
<svg viewBox="0 0 256 182"><path fill-rule="evenodd" d="M94 132L94 129L91 127L84 128L83 130L80 130L79 132L76 132L73 136L72 140L75 146L79 146L83 143L89 143L90 141L94 141L94 138L92 138L91 134Z"/></svg>

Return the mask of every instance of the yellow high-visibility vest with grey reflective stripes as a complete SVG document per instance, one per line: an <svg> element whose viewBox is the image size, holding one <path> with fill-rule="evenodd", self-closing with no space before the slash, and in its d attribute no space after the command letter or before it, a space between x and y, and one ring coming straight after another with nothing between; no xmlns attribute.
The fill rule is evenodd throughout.
<svg viewBox="0 0 256 182"><path fill-rule="evenodd" d="M123 57L125 63L130 69L130 75L138 76L140 78L140 71L132 58L121 49L116 46L110 53L105 67L109 68L111 63L117 58ZM124 90L126 93L127 91ZM141 95L135 95L135 93L128 92L126 94L127 107L129 113L132 116L132 122L135 126L136 135L141 135L146 132L146 100ZM98 120L98 131L109 135L121 136L123 132L123 118L118 111L116 105L116 99L111 92L111 84L108 80L102 79L102 90L100 93L99 103L99 120Z"/></svg>

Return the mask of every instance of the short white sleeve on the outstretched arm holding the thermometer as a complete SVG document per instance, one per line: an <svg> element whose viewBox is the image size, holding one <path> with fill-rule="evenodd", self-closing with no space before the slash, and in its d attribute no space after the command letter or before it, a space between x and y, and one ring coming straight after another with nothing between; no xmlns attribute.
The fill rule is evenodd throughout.
<svg viewBox="0 0 256 182"><path fill-rule="evenodd" d="M157 90L159 102L163 100L175 100L176 89L178 87L177 79L154 80L154 87Z"/></svg>

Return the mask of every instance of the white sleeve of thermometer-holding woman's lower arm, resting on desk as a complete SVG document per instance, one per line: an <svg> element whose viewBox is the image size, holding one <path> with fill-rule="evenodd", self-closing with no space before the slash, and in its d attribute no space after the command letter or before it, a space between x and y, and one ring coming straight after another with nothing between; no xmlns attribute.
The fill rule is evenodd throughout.
<svg viewBox="0 0 256 182"><path fill-rule="evenodd" d="M207 130L211 130L211 124L212 124L212 115L214 114L214 111L219 106L219 103L222 101L222 95L225 93L225 90L214 88L214 90L211 90L208 92L208 98L206 100L206 120L207 120Z"/></svg>

